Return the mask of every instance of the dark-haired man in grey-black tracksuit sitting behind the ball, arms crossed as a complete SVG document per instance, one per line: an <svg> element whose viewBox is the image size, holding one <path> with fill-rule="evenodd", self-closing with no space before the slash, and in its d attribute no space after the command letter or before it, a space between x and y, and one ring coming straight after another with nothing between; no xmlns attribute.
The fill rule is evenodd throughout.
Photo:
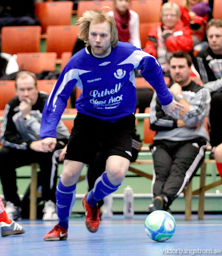
<svg viewBox="0 0 222 256"><path fill-rule="evenodd" d="M154 166L150 211L168 210L204 161L209 139L204 118L210 108L210 93L190 79L191 56L176 51L169 64L173 79L170 91L184 112L165 114L154 93L150 128L157 134L150 146Z"/></svg>

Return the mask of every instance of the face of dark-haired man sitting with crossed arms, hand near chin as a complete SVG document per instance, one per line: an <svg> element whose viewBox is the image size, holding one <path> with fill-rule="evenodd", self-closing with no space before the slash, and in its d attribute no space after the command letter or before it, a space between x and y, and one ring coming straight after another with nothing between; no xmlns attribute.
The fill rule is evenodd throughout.
<svg viewBox="0 0 222 256"><path fill-rule="evenodd" d="M187 64L185 58L174 58L170 60L170 74L174 83L179 83L181 86L187 85L190 80L189 75L191 68Z"/></svg>

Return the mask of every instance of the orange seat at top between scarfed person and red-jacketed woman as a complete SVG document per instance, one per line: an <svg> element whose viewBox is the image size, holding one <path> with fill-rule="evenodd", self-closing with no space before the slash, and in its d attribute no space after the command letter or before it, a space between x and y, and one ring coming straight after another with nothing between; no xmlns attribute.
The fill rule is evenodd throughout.
<svg viewBox="0 0 222 256"><path fill-rule="evenodd" d="M140 23L160 22L162 0L131 1L130 9L137 12Z"/></svg>

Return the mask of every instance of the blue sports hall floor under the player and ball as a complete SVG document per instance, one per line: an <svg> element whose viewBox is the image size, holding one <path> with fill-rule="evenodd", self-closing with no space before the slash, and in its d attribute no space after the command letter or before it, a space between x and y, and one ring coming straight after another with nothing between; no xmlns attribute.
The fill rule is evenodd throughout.
<svg viewBox="0 0 222 256"><path fill-rule="evenodd" d="M222 255L222 215L204 215L199 221L192 215L173 215L176 231L166 242L154 242L145 233L146 215L132 220L114 215L103 220L97 233L89 233L84 217L70 218L68 240L43 241L56 222L22 220L26 233L0 237L0 256L156 256Z"/></svg>

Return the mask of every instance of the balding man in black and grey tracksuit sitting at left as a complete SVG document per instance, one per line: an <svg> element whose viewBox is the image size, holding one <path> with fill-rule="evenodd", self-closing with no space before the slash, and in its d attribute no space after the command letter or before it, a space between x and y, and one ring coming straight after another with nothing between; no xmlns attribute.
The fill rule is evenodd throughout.
<svg viewBox="0 0 222 256"><path fill-rule="evenodd" d="M38 162L42 200L45 201L43 220L56 220L58 216L53 202L56 202L57 173L50 189L53 153L44 153L39 139L42 111L48 96L38 91L36 76L31 72L19 72L15 82L17 96L5 106L1 124L0 178L7 201L5 211L13 220L20 218L21 201L17 194L15 169ZM60 149L69 138L69 131L62 122L57 127L57 135L56 149Z"/></svg>

